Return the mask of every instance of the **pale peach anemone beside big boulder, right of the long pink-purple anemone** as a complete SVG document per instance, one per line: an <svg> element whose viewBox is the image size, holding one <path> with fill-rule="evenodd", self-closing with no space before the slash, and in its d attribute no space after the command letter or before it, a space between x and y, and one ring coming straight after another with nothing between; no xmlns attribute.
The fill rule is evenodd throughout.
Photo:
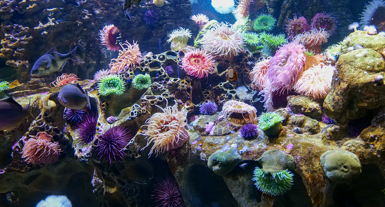
<svg viewBox="0 0 385 207"><path fill-rule="evenodd" d="M331 80L335 67L320 63L305 70L294 86L296 92L313 96L316 98L325 98L331 87Z"/></svg>

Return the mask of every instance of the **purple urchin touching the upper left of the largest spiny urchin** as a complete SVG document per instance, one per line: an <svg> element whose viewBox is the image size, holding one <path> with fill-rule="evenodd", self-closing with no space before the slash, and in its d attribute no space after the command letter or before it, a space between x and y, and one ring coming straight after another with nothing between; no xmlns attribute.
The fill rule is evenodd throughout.
<svg viewBox="0 0 385 207"><path fill-rule="evenodd" d="M87 114L75 125L77 140L82 144L89 144L96 134L97 115Z"/></svg>

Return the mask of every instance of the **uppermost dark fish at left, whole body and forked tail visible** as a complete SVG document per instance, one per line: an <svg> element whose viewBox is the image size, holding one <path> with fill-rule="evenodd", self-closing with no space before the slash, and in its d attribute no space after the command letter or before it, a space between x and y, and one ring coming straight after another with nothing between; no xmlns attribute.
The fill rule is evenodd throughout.
<svg viewBox="0 0 385 207"><path fill-rule="evenodd" d="M60 54L56 52L54 48L50 49L47 53L45 53L42 57L36 60L35 64L31 69L31 75L48 75L50 73L57 72L62 70L65 65L65 62L69 59L79 60L76 55L76 48L71 50L71 52L67 54Z"/></svg>

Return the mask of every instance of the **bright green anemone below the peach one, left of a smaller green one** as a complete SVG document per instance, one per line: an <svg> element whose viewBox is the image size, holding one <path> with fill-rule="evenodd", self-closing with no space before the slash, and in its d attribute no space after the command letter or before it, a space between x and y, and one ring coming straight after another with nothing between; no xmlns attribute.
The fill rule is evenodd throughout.
<svg viewBox="0 0 385 207"><path fill-rule="evenodd" d="M100 95L108 95L115 93L116 95L122 95L126 88L124 82L119 75L107 75L99 80L97 84L97 90Z"/></svg>

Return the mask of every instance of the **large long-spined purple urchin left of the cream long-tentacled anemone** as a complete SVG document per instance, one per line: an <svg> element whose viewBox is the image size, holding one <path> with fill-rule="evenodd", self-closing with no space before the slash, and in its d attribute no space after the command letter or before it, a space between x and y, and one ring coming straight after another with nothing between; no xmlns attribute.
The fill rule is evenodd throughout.
<svg viewBox="0 0 385 207"><path fill-rule="evenodd" d="M97 157L99 160L108 161L110 164L112 161L120 161L126 155L124 147L129 144L131 138L132 136L126 127L111 127L99 137L99 142L95 147Z"/></svg>

